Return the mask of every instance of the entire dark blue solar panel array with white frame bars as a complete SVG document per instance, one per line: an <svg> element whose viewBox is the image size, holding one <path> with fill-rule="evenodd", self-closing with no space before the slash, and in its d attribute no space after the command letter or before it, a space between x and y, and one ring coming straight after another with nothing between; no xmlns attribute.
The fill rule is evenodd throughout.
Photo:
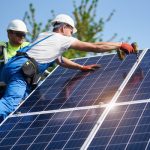
<svg viewBox="0 0 150 150"><path fill-rule="evenodd" d="M150 149L150 50L74 61L101 68L55 69L1 124L0 149Z"/></svg>

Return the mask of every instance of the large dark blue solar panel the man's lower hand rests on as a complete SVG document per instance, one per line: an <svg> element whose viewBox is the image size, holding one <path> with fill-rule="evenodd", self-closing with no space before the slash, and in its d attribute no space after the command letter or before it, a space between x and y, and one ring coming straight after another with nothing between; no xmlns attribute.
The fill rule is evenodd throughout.
<svg viewBox="0 0 150 150"><path fill-rule="evenodd" d="M38 112L108 103L135 60L135 56L128 56L124 61L120 61L115 54L75 60L84 65L100 64L101 68L94 72L58 67L17 112Z"/></svg>

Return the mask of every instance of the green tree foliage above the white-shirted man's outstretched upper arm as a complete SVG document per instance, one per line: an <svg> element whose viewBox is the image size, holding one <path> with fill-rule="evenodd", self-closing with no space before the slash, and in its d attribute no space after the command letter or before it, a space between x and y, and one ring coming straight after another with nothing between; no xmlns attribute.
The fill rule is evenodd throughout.
<svg viewBox="0 0 150 150"><path fill-rule="evenodd" d="M95 19L97 3L98 0L82 0L81 5L77 6L74 1L73 14L78 29L77 37L82 41L95 42L101 40L96 36L103 30L104 21L102 18L98 21Z"/></svg>

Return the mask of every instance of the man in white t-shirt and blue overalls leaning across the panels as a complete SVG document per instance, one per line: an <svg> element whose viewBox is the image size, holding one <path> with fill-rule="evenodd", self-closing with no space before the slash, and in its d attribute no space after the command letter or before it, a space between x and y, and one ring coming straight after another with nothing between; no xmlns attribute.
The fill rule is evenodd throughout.
<svg viewBox="0 0 150 150"><path fill-rule="evenodd" d="M93 70L98 67L96 64L83 66L62 57L63 52L69 48L96 53L111 50L122 50L128 54L135 52L134 48L127 43L89 43L72 37L77 29L73 19L65 14L56 16L52 25L53 32L41 33L37 40L32 43L35 44L34 46L31 44L31 47L19 50L18 55L10 59L5 65L1 74L2 79L7 83L7 88L4 96L0 99L1 118L5 118L14 111L20 101L26 97L28 89L33 84L31 82L33 76L30 78L29 76L37 70L38 73L42 74L52 62L55 61L63 67L82 71ZM32 70L34 68L36 70Z"/></svg>

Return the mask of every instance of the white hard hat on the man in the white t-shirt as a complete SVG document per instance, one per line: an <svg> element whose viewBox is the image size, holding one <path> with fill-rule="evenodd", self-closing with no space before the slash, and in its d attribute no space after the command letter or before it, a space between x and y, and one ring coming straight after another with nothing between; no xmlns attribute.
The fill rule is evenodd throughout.
<svg viewBox="0 0 150 150"><path fill-rule="evenodd" d="M74 21L73 19L66 15L66 14L59 14L57 15L54 20L52 20L52 25L54 25L55 23L66 23L68 25L70 25L71 27L73 27L73 33L77 32L77 29L75 27Z"/></svg>

